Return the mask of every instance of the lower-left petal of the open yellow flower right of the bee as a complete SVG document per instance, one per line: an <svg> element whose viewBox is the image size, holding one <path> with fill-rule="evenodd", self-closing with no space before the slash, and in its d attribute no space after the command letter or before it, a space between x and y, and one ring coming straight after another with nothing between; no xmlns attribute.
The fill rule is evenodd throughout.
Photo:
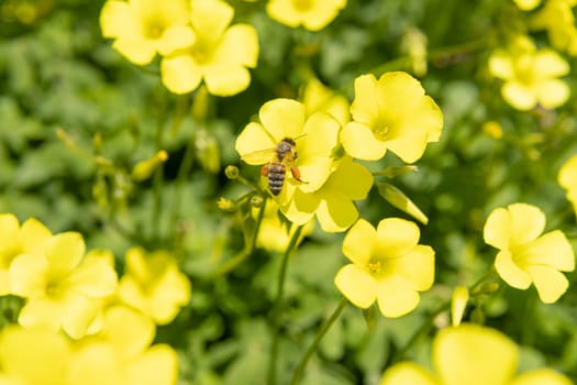
<svg viewBox="0 0 577 385"><path fill-rule="evenodd" d="M341 130L341 143L357 160L377 161L387 152L387 144L377 140L368 125L358 122L346 123Z"/></svg>

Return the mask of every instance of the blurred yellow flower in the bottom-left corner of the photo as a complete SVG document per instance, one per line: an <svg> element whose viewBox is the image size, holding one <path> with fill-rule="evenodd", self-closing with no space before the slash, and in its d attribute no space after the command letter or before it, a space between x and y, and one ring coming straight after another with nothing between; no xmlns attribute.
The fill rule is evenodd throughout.
<svg viewBox="0 0 577 385"><path fill-rule="evenodd" d="M0 384L63 385L70 356L57 333L12 324L0 332Z"/></svg>

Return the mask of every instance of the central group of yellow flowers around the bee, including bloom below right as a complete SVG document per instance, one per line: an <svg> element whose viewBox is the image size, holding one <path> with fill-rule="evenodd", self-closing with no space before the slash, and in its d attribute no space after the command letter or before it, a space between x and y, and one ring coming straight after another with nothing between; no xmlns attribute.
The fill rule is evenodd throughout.
<svg viewBox="0 0 577 385"><path fill-rule="evenodd" d="M285 180L275 204L290 222L306 224L315 217L328 232L345 231L356 221L343 243L353 264L337 273L336 286L356 306L377 301L387 317L406 315L417 307L418 292L433 284L434 251L418 244L420 231L411 221L385 219L377 230L357 221L354 201L367 197L374 177L354 158L378 161L389 150L407 163L418 161L441 136L441 109L415 78L400 72L379 79L359 76L349 111L318 80L302 99L266 102L259 122L238 135L236 151L248 164L266 165L276 156L267 148L296 139L298 156L287 167L298 168L300 177Z"/></svg>

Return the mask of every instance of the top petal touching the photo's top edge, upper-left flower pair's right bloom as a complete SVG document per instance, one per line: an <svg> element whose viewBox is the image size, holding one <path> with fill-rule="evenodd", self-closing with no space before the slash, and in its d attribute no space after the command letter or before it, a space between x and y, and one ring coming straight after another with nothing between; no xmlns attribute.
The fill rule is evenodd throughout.
<svg viewBox="0 0 577 385"><path fill-rule="evenodd" d="M234 16L234 9L220 0L192 0L190 22L197 33L217 41Z"/></svg>

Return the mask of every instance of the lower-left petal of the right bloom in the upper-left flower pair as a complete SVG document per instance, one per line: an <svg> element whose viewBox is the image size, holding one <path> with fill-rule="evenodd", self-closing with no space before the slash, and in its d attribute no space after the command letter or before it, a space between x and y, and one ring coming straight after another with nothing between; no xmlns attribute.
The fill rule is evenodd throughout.
<svg viewBox="0 0 577 385"><path fill-rule="evenodd" d="M163 84L171 92L187 94L200 85L202 72L192 56L177 55L165 57L160 62L160 76Z"/></svg>

